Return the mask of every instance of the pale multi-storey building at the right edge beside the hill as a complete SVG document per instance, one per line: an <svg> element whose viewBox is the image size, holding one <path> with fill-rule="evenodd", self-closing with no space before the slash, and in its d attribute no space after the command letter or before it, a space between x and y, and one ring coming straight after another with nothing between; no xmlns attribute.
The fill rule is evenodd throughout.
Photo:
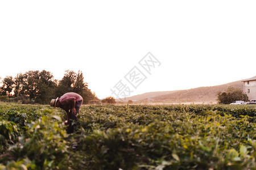
<svg viewBox="0 0 256 170"><path fill-rule="evenodd" d="M256 99L256 76L242 80L243 92L247 94L249 100Z"/></svg>

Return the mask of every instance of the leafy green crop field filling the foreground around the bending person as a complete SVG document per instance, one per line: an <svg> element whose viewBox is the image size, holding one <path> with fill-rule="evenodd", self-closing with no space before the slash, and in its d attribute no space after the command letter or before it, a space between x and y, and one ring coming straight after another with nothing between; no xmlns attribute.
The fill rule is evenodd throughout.
<svg viewBox="0 0 256 170"><path fill-rule="evenodd" d="M0 169L256 169L254 105L0 104ZM76 146L76 147L74 147Z"/></svg>

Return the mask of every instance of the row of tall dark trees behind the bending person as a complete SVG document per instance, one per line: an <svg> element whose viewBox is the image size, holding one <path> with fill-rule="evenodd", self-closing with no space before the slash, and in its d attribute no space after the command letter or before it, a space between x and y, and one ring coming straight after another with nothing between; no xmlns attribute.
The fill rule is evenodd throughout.
<svg viewBox="0 0 256 170"><path fill-rule="evenodd" d="M84 82L82 71L66 70L61 80L54 79L51 72L27 71L14 78L6 76L2 80L0 96L2 99L21 101L22 103L49 104L51 99L60 97L66 92L76 92L84 98L84 104L90 100L99 100ZM1 98L0 98L1 99Z"/></svg>

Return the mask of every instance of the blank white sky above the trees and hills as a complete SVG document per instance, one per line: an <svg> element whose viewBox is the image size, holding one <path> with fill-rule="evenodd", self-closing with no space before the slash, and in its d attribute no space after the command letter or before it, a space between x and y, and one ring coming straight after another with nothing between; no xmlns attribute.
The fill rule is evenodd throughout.
<svg viewBox="0 0 256 170"><path fill-rule="evenodd" d="M81 70L102 99L137 66L131 96L256 75L256 1L0 1L0 76ZM161 63L139 61L148 52ZM114 96L115 97L115 96Z"/></svg>

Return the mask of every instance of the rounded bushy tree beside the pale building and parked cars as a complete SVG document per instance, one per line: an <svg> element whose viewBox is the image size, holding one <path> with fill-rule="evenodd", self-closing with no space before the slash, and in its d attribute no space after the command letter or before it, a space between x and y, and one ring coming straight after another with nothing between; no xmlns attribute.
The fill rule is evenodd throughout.
<svg viewBox="0 0 256 170"><path fill-rule="evenodd" d="M230 104L233 101L247 101L248 96L240 88L229 86L225 92L217 92L217 101L222 104Z"/></svg>

